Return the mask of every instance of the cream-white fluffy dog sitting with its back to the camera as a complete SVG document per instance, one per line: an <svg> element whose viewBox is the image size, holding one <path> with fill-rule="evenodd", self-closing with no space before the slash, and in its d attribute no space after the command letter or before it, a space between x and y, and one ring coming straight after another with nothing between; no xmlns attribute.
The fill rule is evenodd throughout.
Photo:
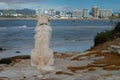
<svg viewBox="0 0 120 80"><path fill-rule="evenodd" d="M46 15L39 15L37 21L31 65L42 72L50 72L54 70L52 66L54 64L53 51L49 48L52 29L49 25L49 18Z"/></svg>

